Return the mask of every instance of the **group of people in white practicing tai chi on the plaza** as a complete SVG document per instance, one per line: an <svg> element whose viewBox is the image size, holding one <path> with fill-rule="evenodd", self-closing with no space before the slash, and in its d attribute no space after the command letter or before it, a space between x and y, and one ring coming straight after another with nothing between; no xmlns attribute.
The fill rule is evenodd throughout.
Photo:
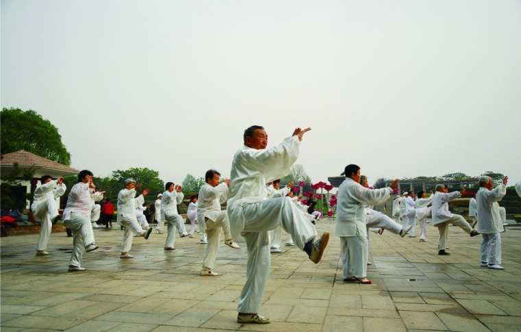
<svg viewBox="0 0 521 332"><path fill-rule="evenodd" d="M280 249L282 230L290 236L289 244L294 244L303 251L308 259L318 264L328 245L329 233L317 235L311 222L313 216L307 213L304 205L298 203L293 192L279 188L275 181L289 174L291 166L298 158L300 144L304 134L311 128L297 128L293 134L280 144L267 148L268 136L265 129L254 125L243 134L243 146L234 154L230 179L221 182L217 170L208 170L206 183L199 190L197 201L197 220L199 230L207 235L208 246L199 274L217 276L213 271L219 248L221 229L225 244L239 248L234 240L242 236L247 248L246 281L239 298L237 322L267 324L269 318L258 314L260 301L267 283L270 270L270 249ZM371 205L382 204L398 188L398 180L391 182L389 188L369 189L367 179L361 175L361 168L354 164L346 166L346 180L339 187L337 194L337 220L335 235L341 241L341 264L343 279L358 283L371 283L367 279L368 236L367 229L388 229L402 237L412 229L412 225L400 225L391 218L371 209ZM42 231L38 241L37 254L48 255L45 251L51 229L51 220L58 216L56 198L64 194L66 188L63 179L53 180L43 177L42 185L34 194L33 212L42 222ZM266 183L271 183L268 188ZM451 214L448 201L459 196L459 192L448 193L443 185L436 188L430 200L422 202L424 208L432 204L433 223L439 229L439 253L445 251L448 224L461 227L470 236L483 233L481 245L481 265L489 268L502 268L501 242L498 220L497 201L505 195L508 178L496 188L492 188L492 179L480 178L480 190L476 195L478 231L470 227L462 216ZM143 205L148 190L136 197L136 182L125 180L125 188L118 194L117 220L123 225L121 258L132 258L132 235L148 239L152 228L143 229L136 218L136 206ZM95 185L93 173L82 170L78 182L69 193L63 213L64 224L73 230L73 253L69 262L70 271L84 270L81 266L84 251L93 251L95 244L90 214L94 205ZM181 237L189 235L184 228L184 221L178 214L177 205L183 199L182 188L168 182L160 198L160 218L167 222L168 233L165 250L173 250L175 229ZM226 211L221 210L221 203L227 201ZM157 211L158 209L156 209ZM192 209L194 211L195 209ZM424 212L425 213L425 212ZM195 218L191 216L189 218ZM192 227L191 233L195 229ZM271 237L269 235L271 232ZM271 240L270 240L271 238ZM277 251L275 251L277 252Z"/></svg>

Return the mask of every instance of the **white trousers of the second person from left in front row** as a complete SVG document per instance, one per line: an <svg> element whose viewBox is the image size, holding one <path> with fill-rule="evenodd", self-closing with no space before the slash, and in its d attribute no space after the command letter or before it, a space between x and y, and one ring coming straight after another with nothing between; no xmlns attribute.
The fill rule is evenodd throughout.
<svg viewBox="0 0 521 332"><path fill-rule="evenodd" d="M85 247L95 243L93 224L83 214L71 213L71 220L65 220L65 227L73 231L73 252L69 260L69 266L82 266L82 256Z"/></svg>

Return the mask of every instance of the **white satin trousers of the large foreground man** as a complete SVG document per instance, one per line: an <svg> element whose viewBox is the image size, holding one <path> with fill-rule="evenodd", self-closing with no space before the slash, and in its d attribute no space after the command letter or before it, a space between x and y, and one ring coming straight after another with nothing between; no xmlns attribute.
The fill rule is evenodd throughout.
<svg viewBox="0 0 521 332"><path fill-rule="evenodd" d="M269 253L268 231L282 226L291 234L301 250L304 245L317 237L317 231L309 222L302 209L289 197L266 199L265 201L243 206L245 220L241 233L246 241L248 261L246 283L239 298L239 312L253 314L258 311L269 276L271 257Z"/></svg>

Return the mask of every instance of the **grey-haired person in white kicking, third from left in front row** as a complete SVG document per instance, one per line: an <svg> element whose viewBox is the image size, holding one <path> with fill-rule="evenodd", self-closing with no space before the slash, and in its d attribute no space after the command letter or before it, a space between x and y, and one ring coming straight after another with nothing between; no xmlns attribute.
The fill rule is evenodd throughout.
<svg viewBox="0 0 521 332"><path fill-rule="evenodd" d="M148 189L144 189L141 195L136 197L136 188L141 188L141 183L136 186L134 179L125 180L125 188L119 191L117 203L117 221L123 227L123 236L121 237L121 255L123 259L132 258L130 249L132 248L132 233L138 236L143 236L148 240L152 228L144 231L136 219L136 205L145 202L145 196L148 194Z"/></svg>

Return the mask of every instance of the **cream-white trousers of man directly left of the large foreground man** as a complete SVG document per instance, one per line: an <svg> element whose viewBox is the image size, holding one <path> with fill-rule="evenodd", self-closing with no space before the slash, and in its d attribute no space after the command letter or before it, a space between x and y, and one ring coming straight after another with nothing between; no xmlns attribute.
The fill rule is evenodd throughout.
<svg viewBox="0 0 521 332"><path fill-rule="evenodd" d="M221 240L221 228L224 233L224 240L230 242L232 234L230 233L230 221L226 211L221 211L216 220L204 218L206 222L206 234L208 235L208 246L206 246L206 254L203 259L203 270L210 271L215 268L217 260L217 251L219 251L219 240Z"/></svg>

